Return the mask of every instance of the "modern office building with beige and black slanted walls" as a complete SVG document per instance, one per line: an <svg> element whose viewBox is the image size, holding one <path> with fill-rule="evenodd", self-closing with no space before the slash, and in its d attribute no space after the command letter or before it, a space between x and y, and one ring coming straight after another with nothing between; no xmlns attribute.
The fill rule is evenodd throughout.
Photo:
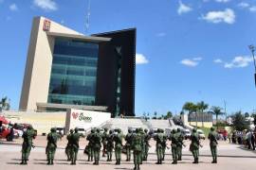
<svg viewBox="0 0 256 170"><path fill-rule="evenodd" d="M135 115L136 28L85 36L33 20L20 110Z"/></svg>

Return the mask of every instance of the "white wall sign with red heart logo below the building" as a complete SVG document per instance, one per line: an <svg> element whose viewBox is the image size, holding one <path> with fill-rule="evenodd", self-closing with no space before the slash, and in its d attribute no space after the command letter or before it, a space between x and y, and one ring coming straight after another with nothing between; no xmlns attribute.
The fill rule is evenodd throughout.
<svg viewBox="0 0 256 170"><path fill-rule="evenodd" d="M111 113L92 111L92 110L74 110L66 111L65 117L65 133L75 127L84 128L85 130L91 127L99 127L109 121Z"/></svg>

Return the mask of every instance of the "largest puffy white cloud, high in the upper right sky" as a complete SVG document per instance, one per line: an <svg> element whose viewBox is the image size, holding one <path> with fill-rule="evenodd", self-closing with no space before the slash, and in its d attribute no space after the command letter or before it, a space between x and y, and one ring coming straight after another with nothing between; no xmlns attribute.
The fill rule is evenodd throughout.
<svg viewBox="0 0 256 170"><path fill-rule="evenodd" d="M235 13L231 8L226 8L223 11L210 11L206 15L203 15L201 19L213 24L227 23L231 25L235 22Z"/></svg>

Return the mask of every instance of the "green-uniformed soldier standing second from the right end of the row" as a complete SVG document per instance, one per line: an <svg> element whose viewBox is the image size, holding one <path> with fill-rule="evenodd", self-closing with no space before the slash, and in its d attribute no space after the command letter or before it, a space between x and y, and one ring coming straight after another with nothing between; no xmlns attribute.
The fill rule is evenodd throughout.
<svg viewBox="0 0 256 170"><path fill-rule="evenodd" d="M192 163L198 163L198 156L199 156L199 135L196 132L196 129L192 129L192 136L191 136L191 145L190 145L190 151L192 152L192 156L194 161Z"/></svg>

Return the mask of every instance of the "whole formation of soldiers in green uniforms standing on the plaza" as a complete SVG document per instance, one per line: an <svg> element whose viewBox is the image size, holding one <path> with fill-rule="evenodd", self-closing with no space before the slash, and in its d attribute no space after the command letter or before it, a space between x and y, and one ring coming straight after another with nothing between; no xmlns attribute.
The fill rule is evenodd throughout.
<svg viewBox="0 0 256 170"><path fill-rule="evenodd" d="M31 126L27 127L27 131L23 134L24 142L22 144L22 162L21 164L27 164L29 153L31 147L33 147L32 140L36 136L36 130ZM47 164L54 164L54 156L57 149L57 142L61 136L56 132L56 128L51 128L50 132L47 134L46 140L46 161ZM70 164L75 165L78 157L78 151L80 149L80 138L85 138L84 134L79 133L78 128L70 129L69 133L66 135L67 144L65 147L65 154L67 161ZM119 165L121 162L121 153L126 154L126 161L131 161L131 156L133 154L134 169L139 170L140 164L143 161L148 160L148 152L151 139L155 140L155 152L157 161L156 164L162 164L165 160L165 150L168 147L167 141L170 140L173 164L177 164L178 161L182 161L182 147L186 146L184 144L184 136L181 129L173 129L172 133L168 136L163 129L158 128L155 134L150 134L148 129L136 128L135 131L128 129L128 133L123 135L119 128L113 130L108 130L104 128L101 132L100 128L92 128L90 133L86 136L86 141L88 144L84 148L84 154L87 155L87 161L94 161L93 164L99 165L101 158L106 157L106 161L112 161L113 152L115 152L116 164ZM209 133L210 140L210 151L212 156L212 163L217 163L217 133L214 128L210 128ZM125 144L123 145L123 141ZM102 149L101 149L102 146ZM199 162L199 148L202 146L200 144L200 138L196 129L192 129L190 151L193 156L193 163Z"/></svg>

